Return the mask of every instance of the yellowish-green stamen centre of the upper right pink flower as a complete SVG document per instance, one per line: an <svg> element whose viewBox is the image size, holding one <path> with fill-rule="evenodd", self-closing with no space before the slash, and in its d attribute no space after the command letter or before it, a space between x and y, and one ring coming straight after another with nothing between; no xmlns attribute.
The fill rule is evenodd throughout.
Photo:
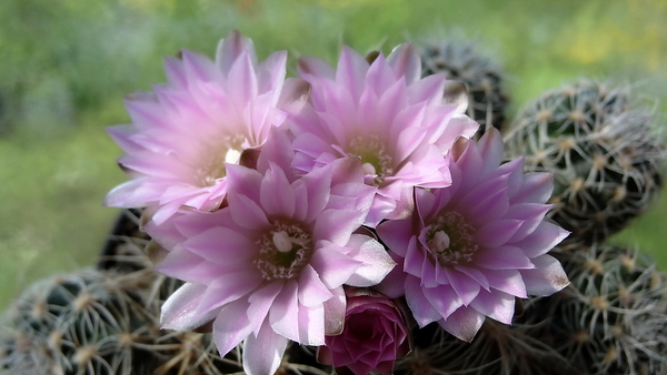
<svg viewBox="0 0 667 375"><path fill-rule="evenodd" d="M361 158L364 173L374 176L375 185L394 175L394 161L378 135L359 135L349 143L347 153Z"/></svg>

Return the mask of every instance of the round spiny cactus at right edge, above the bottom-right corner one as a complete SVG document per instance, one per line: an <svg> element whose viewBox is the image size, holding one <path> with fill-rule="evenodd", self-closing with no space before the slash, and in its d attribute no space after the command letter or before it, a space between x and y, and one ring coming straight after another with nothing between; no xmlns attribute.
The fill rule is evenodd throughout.
<svg viewBox="0 0 667 375"><path fill-rule="evenodd" d="M571 232L566 242L601 242L655 202L665 148L651 118L628 88L593 80L548 91L517 115L506 153L554 173L550 216Z"/></svg>

